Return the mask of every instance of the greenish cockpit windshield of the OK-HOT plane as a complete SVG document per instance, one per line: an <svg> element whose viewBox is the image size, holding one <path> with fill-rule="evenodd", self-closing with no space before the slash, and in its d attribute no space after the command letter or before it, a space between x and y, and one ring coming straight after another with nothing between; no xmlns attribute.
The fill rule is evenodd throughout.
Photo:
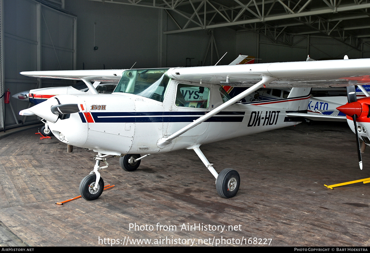
<svg viewBox="0 0 370 253"><path fill-rule="evenodd" d="M163 102L169 78L165 73L168 68L147 70L126 70L114 92L136 94Z"/></svg>

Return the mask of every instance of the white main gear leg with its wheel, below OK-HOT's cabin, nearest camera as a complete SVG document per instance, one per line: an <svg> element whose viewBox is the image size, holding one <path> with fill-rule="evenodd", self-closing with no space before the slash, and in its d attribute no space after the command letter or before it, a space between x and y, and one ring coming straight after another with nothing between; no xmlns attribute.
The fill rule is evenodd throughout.
<svg viewBox="0 0 370 253"><path fill-rule="evenodd" d="M239 190L240 185L240 176L237 171L231 168L223 169L219 174L213 168L213 163L209 163L207 158L203 155L201 149L199 149L201 144L191 146L187 149L193 149L195 153L202 160L207 169L212 173L216 178L216 190L218 195L222 198L232 198L236 195Z"/></svg>

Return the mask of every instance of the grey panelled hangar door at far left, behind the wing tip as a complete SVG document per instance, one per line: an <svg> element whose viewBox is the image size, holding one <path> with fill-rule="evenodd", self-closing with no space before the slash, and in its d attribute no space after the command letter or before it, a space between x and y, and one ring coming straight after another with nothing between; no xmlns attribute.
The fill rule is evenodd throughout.
<svg viewBox="0 0 370 253"><path fill-rule="evenodd" d="M71 70L74 68L74 16L51 9L34 0L4 1L4 89L11 95L34 88L65 86L71 82L45 81L19 72ZM5 126L24 121L37 122L36 116L21 117L18 112L29 103L10 98L6 105ZM16 118L14 118L14 116Z"/></svg>

